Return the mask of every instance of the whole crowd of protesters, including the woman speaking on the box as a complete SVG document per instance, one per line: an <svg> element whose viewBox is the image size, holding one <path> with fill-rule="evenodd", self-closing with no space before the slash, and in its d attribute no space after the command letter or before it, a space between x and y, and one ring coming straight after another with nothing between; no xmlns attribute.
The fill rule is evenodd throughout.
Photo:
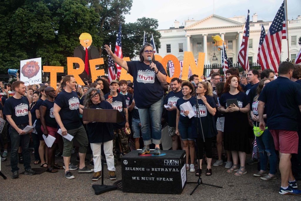
<svg viewBox="0 0 301 201"><path fill-rule="evenodd" d="M191 75L189 81L172 78L167 83L166 72L154 60L150 44L141 48L140 61L133 62L116 58L108 46L105 49L134 77L133 82L108 82L106 76L101 76L81 86L73 75L66 75L56 89L48 83L26 87L24 82L15 81L3 90L0 115L8 126L1 134L1 161L8 156L10 141L12 178L19 177L18 163L23 163L25 174L36 174L30 164L31 144L34 164L47 172L64 168L68 179L74 178L73 170L94 172L92 180L96 181L101 177L103 143L109 178L115 180L117 161L128 152L140 149L138 154L144 155L154 148L153 154L160 155L161 132L167 125L171 149L185 150L186 170L196 176L202 174L203 162L206 176L213 175L212 165L224 162L225 174L242 176L247 174L246 164L260 161L260 170L253 175L275 180L279 161L279 193L301 194L296 183L301 179L300 65L282 62L279 77L270 69L250 69L241 74L237 68L230 68L225 78L211 72L208 78ZM0 82L4 89L2 85ZM194 110L191 118L189 111L182 108L187 102ZM124 121L85 122L84 108L119 110ZM23 129L34 122L35 128L25 133ZM65 138L67 133L73 140ZM49 135L56 138L51 147L44 141ZM257 153L252 151L253 144L258 145ZM247 161L247 154L252 152L252 160ZM70 163L73 153L79 165ZM86 154L92 157L87 159ZM64 158L64 165L55 163L58 156ZM94 168L88 168L86 163Z"/></svg>

